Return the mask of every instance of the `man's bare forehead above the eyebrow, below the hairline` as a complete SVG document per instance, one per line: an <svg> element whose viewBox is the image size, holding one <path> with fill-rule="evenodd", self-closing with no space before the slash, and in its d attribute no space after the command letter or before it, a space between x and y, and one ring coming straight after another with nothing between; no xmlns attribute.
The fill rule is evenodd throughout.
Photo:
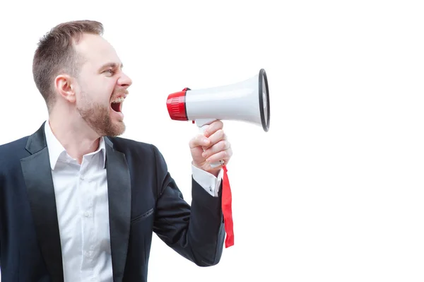
<svg viewBox="0 0 424 282"><path fill-rule="evenodd" d="M105 63L120 64L114 47L100 35L84 34L76 45L76 52L83 56L88 65L100 67Z"/></svg>

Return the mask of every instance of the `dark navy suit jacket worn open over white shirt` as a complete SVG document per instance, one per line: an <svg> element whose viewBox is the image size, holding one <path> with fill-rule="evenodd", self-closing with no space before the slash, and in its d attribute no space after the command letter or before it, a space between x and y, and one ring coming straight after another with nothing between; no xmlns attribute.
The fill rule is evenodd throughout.
<svg viewBox="0 0 424 282"><path fill-rule="evenodd" d="M190 206L158 148L116 137L105 143L114 281L147 281L153 231L195 264L217 264L220 196L192 180ZM2 282L64 281L44 124L0 146L0 268Z"/></svg>

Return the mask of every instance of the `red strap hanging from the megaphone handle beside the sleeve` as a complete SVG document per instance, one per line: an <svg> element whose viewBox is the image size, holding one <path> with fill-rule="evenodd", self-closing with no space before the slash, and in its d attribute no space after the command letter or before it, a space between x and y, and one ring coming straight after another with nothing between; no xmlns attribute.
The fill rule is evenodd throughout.
<svg viewBox="0 0 424 282"><path fill-rule="evenodd" d="M222 208L224 216L224 225L227 237L225 238L225 247L234 245L234 233L232 232L232 209L231 209L231 188L230 181L228 180L227 167L223 165L223 199Z"/></svg>

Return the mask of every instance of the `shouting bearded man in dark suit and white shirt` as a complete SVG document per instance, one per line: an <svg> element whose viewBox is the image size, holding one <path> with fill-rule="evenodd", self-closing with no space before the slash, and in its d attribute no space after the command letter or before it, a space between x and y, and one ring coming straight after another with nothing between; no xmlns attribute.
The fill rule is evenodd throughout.
<svg viewBox="0 0 424 282"><path fill-rule="evenodd" d="M49 119L0 146L1 281L147 281L153 231L199 266L223 251L220 121L189 141L192 204L158 148L123 139L131 79L102 24L62 23L35 52Z"/></svg>

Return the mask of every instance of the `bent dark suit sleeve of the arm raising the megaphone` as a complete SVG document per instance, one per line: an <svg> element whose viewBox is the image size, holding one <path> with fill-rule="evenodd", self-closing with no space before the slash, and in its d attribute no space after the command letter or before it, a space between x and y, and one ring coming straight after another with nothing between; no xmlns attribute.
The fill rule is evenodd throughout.
<svg viewBox="0 0 424 282"><path fill-rule="evenodd" d="M190 206L167 171L163 155L154 146L153 151L158 187L153 230L163 242L195 264L218 264L225 237L221 194L211 196L192 178Z"/></svg>

